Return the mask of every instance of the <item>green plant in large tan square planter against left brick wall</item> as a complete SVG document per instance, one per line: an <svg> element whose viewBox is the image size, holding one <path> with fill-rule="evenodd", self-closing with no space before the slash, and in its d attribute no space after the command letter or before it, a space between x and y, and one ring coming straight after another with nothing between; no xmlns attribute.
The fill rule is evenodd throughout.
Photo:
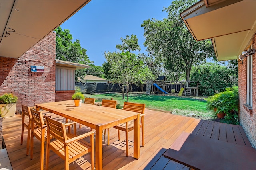
<svg viewBox="0 0 256 170"><path fill-rule="evenodd" d="M0 115L1 117L14 116L18 97L12 93L0 96Z"/></svg>

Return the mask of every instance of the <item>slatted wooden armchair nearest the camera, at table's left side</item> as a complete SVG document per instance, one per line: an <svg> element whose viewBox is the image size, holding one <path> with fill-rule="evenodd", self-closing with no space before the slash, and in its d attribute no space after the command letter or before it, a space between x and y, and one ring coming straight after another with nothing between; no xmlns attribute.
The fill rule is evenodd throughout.
<svg viewBox="0 0 256 170"><path fill-rule="evenodd" d="M60 156L60 158L65 160L65 170L69 169L71 162L90 152L91 167L92 170L94 170L94 132L90 131L79 136L68 135L64 123L47 116L45 118L47 124L46 169L48 170L51 149ZM52 135L55 140L50 141L50 135ZM90 143L81 140L88 136L90 136Z"/></svg>

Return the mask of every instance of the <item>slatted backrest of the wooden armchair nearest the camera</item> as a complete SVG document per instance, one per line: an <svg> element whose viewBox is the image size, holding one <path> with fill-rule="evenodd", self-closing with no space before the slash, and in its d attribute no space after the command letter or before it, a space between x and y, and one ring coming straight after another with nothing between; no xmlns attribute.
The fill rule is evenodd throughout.
<svg viewBox="0 0 256 170"><path fill-rule="evenodd" d="M45 116L45 120L47 125L47 135L52 135L55 139L65 143L67 140L67 133L64 123L48 116Z"/></svg>

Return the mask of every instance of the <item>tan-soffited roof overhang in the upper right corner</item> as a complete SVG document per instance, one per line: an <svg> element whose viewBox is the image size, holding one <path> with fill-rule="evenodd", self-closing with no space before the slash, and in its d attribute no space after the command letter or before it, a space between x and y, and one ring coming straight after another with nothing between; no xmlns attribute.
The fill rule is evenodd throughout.
<svg viewBox="0 0 256 170"><path fill-rule="evenodd" d="M256 33L255 0L201 0L180 14L196 41L211 39L218 61L238 59Z"/></svg>

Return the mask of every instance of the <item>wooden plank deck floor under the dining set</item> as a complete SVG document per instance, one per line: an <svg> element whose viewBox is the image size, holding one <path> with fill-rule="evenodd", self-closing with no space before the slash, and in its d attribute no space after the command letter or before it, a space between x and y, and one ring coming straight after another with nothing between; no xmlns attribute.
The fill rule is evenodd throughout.
<svg viewBox="0 0 256 170"><path fill-rule="evenodd" d="M126 157L125 134L120 132L121 140L118 141L117 130L110 129L110 145L103 145L103 169L117 170L160 170L160 169L189 169L188 167L173 162L163 156L164 152L183 132L193 133L208 138L218 139L238 145L251 147L244 130L238 125L226 125L213 121L203 121L192 117L172 115L170 113L145 110L145 145L140 147L140 158L133 156L133 132L129 136L129 156ZM59 117L59 119L62 119ZM26 156L26 135L24 130L24 142L20 145L21 116L4 118L3 133L4 142L13 170L37 170L39 169L40 142L34 140L34 159ZM90 131L90 128L82 126L77 133ZM45 162L44 162L45 163ZM51 170L64 169L64 161L53 152L50 152ZM83 156L70 164L70 169L90 169L90 155Z"/></svg>

